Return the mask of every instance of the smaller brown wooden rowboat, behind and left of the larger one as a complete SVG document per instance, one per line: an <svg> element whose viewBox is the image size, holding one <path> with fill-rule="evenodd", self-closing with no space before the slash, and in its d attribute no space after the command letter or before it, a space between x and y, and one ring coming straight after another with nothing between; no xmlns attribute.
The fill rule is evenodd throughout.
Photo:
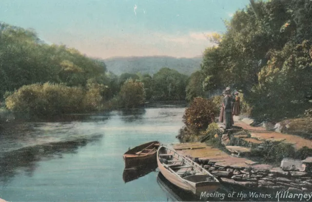
<svg viewBox="0 0 312 202"><path fill-rule="evenodd" d="M123 155L123 159L125 160L125 168L156 163L158 147L158 141L151 141L130 149Z"/></svg>

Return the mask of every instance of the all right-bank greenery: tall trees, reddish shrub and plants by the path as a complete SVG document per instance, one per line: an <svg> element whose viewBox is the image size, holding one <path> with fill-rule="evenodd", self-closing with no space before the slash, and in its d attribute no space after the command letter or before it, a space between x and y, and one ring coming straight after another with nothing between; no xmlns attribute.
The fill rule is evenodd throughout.
<svg viewBox="0 0 312 202"><path fill-rule="evenodd" d="M201 89L211 97L196 98L186 110L180 140L224 148L223 133L215 120L207 117L219 115L222 97L216 94L227 86L239 92L243 116L253 118L256 124L287 125L281 132L312 140L312 102L306 99L312 95L311 2L251 0L225 25L224 34L209 36L215 46L205 50L201 70L190 77L188 100L204 97ZM241 133L250 137L248 131ZM230 145L251 147L261 162L312 156L311 148L295 150L280 141L265 142L261 150L238 138L231 138Z"/></svg>

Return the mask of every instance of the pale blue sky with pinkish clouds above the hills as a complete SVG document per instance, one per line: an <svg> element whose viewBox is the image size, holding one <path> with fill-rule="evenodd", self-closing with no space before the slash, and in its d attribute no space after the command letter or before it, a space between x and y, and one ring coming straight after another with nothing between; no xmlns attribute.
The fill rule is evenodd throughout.
<svg viewBox="0 0 312 202"><path fill-rule="evenodd" d="M0 21L95 58L201 56L249 0L0 0Z"/></svg>

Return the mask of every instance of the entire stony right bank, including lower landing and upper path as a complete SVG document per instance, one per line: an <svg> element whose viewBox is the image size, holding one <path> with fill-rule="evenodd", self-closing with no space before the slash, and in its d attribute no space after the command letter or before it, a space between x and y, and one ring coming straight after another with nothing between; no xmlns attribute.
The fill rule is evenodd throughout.
<svg viewBox="0 0 312 202"><path fill-rule="evenodd" d="M235 116L233 129L224 130L222 123L212 125L218 127L214 138L208 127L205 136L192 138L201 142L175 144L174 148L225 183L262 191L312 191L312 140L277 132L282 128L279 124L267 130L263 125L252 126L251 119Z"/></svg>

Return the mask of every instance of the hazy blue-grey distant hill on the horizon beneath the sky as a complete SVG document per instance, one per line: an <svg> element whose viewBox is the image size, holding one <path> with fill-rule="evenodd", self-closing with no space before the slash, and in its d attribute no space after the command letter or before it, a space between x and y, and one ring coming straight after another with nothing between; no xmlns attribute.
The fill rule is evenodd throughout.
<svg viewBox="0 0 312 202"><path fill-rule="evenodd" d="M191 75L200 69L202 57L195 58L174 58L168 56L150 56L150 57L123 57L110 58L103 60L107 70L114 74L137 73L153 75L162 67L175 69L176 71Z"/></svg>

